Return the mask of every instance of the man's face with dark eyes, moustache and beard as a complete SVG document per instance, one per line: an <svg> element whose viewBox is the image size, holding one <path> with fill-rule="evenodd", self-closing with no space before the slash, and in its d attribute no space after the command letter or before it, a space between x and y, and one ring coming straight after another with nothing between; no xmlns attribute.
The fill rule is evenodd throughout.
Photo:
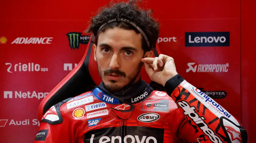
<svg viewBox="0 0 256 143"><path fill-rule="evenodd" d="M108 29L98 36L94 60L103 83L109 91L119 91L140 78L141 59L152 56L142 49L142 35L134 30Z"/></svg>

